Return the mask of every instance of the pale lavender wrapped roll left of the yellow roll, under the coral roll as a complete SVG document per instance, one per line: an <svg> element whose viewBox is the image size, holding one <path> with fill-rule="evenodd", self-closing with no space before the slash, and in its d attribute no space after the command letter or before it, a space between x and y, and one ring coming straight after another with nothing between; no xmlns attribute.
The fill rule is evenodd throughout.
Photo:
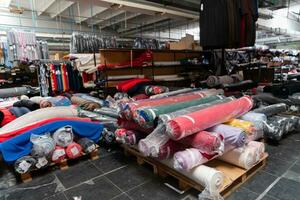
<svg viewBox="0 0 300 200"><path fill-rule="evenodd" d="M247 134L241 128L219 124L207 129L207 131L221 133L224 136L225 146L241 147L246 143Z"/></svg>

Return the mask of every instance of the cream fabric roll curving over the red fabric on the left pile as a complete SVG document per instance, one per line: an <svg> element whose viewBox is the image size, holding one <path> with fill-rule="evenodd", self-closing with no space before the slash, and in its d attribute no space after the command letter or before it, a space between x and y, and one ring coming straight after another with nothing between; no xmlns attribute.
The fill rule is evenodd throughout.
<svg viewBox="0 0 300 200"><path fill-rule="evenodd" d="M77 117L77 113L77 109L71 106L42 108L27 113L17 118L16 120L6 124L0 129L0 135L20 129L28 124L32 124L41 120L46 120L54 117Z"/></svg>

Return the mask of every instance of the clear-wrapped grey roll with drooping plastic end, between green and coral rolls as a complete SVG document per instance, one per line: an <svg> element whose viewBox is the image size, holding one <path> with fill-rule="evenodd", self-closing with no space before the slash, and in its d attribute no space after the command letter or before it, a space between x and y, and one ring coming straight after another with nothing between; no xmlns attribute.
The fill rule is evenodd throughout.
<svg viewBox="0 0 300 200"><path fill-rule="evenodd" d="M201 110L212 105L221 104L224 102L232 101L234 98L228 97L222 100L210 102L207 104L202 104L198 106L189 107L183 110L179 110L173 113L160 115L158 118L158 126L149 134L145 139L142 139L139 142L139 150L145 156L157 157L160 146L164 145L170 138L166 132L165 123L171 119L174 119L178 116L194 112L195 110Z"/></svg>

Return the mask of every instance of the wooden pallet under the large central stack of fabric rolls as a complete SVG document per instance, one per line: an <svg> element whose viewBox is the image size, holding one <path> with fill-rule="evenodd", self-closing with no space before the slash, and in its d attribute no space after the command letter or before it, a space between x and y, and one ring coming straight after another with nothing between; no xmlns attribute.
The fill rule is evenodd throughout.
<svg viewBox="0 0 300 200"><path fill-rule="evenodd" d="M187 189L194 188L198 191L202 191L204 189L202 185L184 176L182 173L176 171L175 169L153 158L144 157L137 149L128 147L127 145L123 145L122 147L124 148L125 155L132 155L137 158L137 163L139 165L142 165L144 163L151 165L153 167L154 174L161 177L171 176L176 178L178 180L178 187L181 190L185 191ZM226 198L249 178L260 171L266 165L267 157L268 154L266 153L263 158L249 170L236 167L232 164L217 159L214 159L205 165L215 168L216 170L224 174L224 183L220 193L224 198Z"/></svg>

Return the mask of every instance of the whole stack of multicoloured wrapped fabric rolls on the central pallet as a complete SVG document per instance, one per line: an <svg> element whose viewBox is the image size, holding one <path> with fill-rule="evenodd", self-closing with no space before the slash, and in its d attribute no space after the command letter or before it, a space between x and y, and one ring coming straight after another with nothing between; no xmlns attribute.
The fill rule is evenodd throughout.
<svg viewBox="0 0 300 200"><path fill-rule="evenodd" d="M236 99L223 93L183 89L120 104L122 119L115 137L218 195L222 173L203 164L217 158L250 169L264 156L264 144L255 141L263 137L264 125L257 121L263 114L252 112L256 117L249 117L251 97Z"/></svg>

